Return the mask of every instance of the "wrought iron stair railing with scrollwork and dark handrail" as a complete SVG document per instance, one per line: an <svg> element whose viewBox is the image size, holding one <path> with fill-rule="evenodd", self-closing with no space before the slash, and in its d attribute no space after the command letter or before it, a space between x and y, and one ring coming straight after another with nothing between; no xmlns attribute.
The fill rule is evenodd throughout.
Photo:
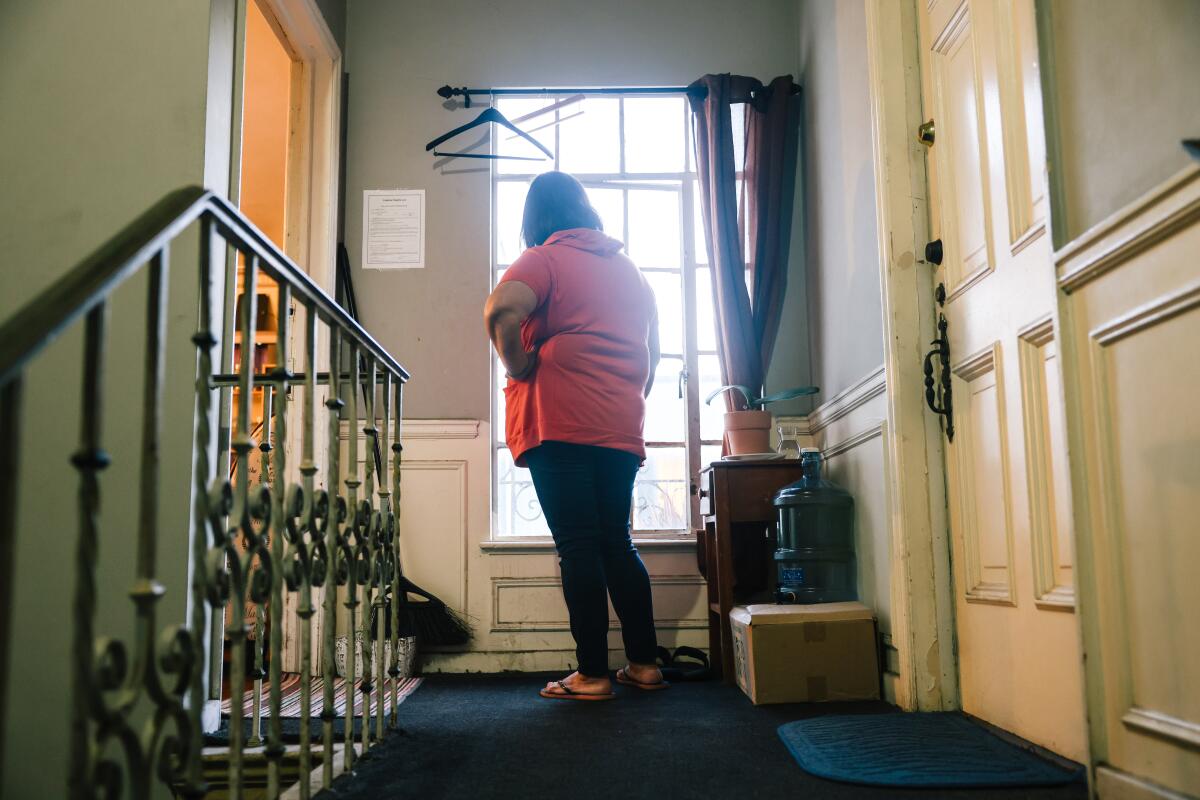
<svg viewBox="0 0 1200 800"><path fill-rule="evenodd" d="M194 419L163 419L164 339L167 288L173 241L193 225L199 228L198 318L194 336ZM241 270L241 289L230 276ZM101 393L106 365L109 307L114 293L133 275L149 271L144 396L140 439L140 483L137 487L138 528L131 541L113 541L118 531L106 531L106 555L136 558L136 583L131 591L136 640L128 644L101 637L96 630L97 545L101 539L98 474L109 464L101 429ZM178 270L176 270L178 272ZM262 276L277 284L278 303L275 368L256 374L253 348L259 323L256 313ZM220 282L218 282L220 278ZM226 300L222 301L222 287ZM229 344L234 314L228 308L236 294L236 330L241 357L230 365ZM302 331L296 337L299 359L288 353L292 342L290 309L300 312ZM395 727L398 706L398 624L386 634L371 625L371 609L379 612L390 591L400 593L400 444L401 401L408 373L358 323L355 323L304 271L275 247L224 199L200 188L180 190L155 205L67 273L23 311L0 326L0 583L10 591L12 542L24 533L17 528L16 486L20 480L17 441L22 429L22 395L28 367L42 349L67 327L83 319L84 359L80 441L71 463L78 471L78 531L74 557L74 602L71 668L71 724L64 727L70 742L71 771L64 777L70 796L144 798L166 782L180 796L203 796L205 786L202 712L211 703L210 674L224 639L228 640L229 750L228 792L239 798L247 775L247 746L264 744L266 795L277 796L283 783L281 676L283 657L284 596L295 604L299 628L300 746L299 794L308 795L313 758L320 762L324 786L335 771L335 754L349 769L361 753ZM328 337L326 353L318 353L318 331ZM220 348L218 348L220 345ZM222 355L223 354L223 355ZM218 372L218 362L232 372ZM289 372L288 365L302 372ZM324 387L318 410L318 386ZM235 387L235 390L234 390ZM300 408L294 409L292 390L299 389ZM251 435L252 398L262 396L262 441ZM238 463L233 480L228 453L218 449L218 407L235 398L236 425L229 447ZM228 402L228 401L227 401ZM324 416L324 432L320 419ZM228 415L227 415L228 416ZM348 420L352 434L348 458L342 462L340 423ZM377 420L382 421L377 422ZM287 429L299 421L299 464L289 453ZM191 587L187 619L156 615L162 587L156 577L158 527L158 453L163 425L193 426L193 507L190 516ZM190 429L190 428L188 428ZM316 459L317 440L328 443L325 464ZM391 443L391 458L380 458L380 445ZM373 451L360 464L360 445ZM258 449L263 480L252 485L250 458ZM288 482L289 471L299 480ZM122 500L125 500L122 498ZM127 548L128 553L119 553ZM0 601L7 601L0 597ZM319 600L319 603L318 603ZM253 604L251 630L244 603ZM343 732L335 741L335 636L337 603L347 609L346 704ZM214 633L209 612L220 616L233 606L224 637ZM0 664L7 664L13 643L11 602L0 606ZM322 712L312 718L313 684L311 619L322 619L319 667L323 675ZM382 616L382 614L380 614ZM343 625L344 627L344 625ZM355 632L361 632L362 664L356 663ZM266 637L265 672L263 639ZM247 639L256 654L246 670ZM371 648L373 658L367 657ZM372 661L384 672L372 675ZM361 727L355 736L355 684L361 696ZM259 697L268 693L268 712L260 720ZM0 697L7 692L8 675L0 666ZM247 682L251 686L247 688ZM218 688L218 687L217 687ZM254 699L247 741L244 705ZM372 715L371 694L377 712ZM2 700L0 700L2 702ZM385 710L390 720L384 722ZM0 708L0 728L4 727ZM149 718L144 724L143 718ZM137 721L137 722L136 722ZM53 722L49 721L49 722ZM265 736L262 727L265 724ZM312 734L320 726L320 741ZM340 752L338 752L340 751ZM110 794L104 794L104 792Z"/></svg>

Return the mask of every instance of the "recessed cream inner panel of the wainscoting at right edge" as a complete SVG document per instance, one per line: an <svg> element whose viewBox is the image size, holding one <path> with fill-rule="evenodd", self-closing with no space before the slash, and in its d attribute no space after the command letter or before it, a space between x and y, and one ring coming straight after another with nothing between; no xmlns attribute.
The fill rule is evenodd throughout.
<svg viewBox="0 0 1200 800"><path fill-rule="evenodd" d="M1195 408L1200 359L1163 357L1180 342L1200 342L1200 291L1175 318L1110 326L1093 336L1100 368L1102 407L1135 415L1138 426L1100 420L1112 461L1108 485L1114 503L1123 566L1132 673L1132 724L1176 728L1200 744L1200 681L1178 664L1200 663L1200 625L1172 624L1180 610L1200 608L1200 536L1195 487L1200 485L1200 416L1159 409ZM1153 387L1147 392L1147 387ZM1180 620L1182 621L1182 620Z"/></svg>

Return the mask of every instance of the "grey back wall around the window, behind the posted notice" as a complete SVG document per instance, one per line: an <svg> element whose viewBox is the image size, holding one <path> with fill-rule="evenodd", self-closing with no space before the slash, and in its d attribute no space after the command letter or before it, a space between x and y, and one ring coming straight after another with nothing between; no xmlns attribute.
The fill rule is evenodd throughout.
<svg viewBox="0 0 1200 800"><path fill-rule="evenodd" d="M354 272L366 326L412 368L406 413L415 417L490 414L488 172L462 161L434 170L425 143L475 115L444 109L438 86L682 85L706 72L794 68L790 0L353 0L348 17L350 263L360 260L362 190L427 193L426 269ZM781 339L778 360L797 350Z"/></svg>

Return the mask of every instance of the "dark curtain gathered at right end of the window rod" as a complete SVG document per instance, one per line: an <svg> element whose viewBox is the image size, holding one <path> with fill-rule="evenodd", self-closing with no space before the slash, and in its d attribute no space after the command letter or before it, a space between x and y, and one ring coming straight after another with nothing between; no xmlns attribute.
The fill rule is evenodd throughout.
<svg viewBox="0 0 1200 800"><path fill-rule="evenodd" d="M695 114L700 216L716 303L721 383L761 391L787 289L799 97L791 76L769 85L731 74L689 86ZM730 107L745 103L745 163L736 164ZM745 186L738 207L737 172ZM739 398L727 396L733 409Z"/></svg>

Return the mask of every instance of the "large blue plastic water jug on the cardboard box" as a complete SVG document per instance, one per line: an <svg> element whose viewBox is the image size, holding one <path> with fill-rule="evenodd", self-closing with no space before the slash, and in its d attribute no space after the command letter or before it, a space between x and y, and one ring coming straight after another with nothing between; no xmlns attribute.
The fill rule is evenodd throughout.
<svg viewBox="0 0 1200 800"><path fill-rule="evenodd" d="M800 451L802 477L775 493L779 548L775 551L779 603L858 600L854 561L854 499L821 477L821 451Z"/></svg>

